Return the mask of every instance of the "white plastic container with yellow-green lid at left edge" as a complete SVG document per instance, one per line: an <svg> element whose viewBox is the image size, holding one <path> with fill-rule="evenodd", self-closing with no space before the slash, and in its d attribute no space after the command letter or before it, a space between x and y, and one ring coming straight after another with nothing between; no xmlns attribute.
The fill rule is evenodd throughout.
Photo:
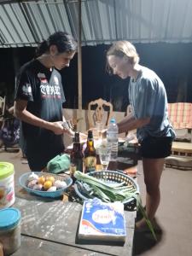
<svg viewBox="0 0 192 256"><path fill-rule="evenodd" d="M14 202L14 165L0 162L0 209L10 207Z"/></svg>

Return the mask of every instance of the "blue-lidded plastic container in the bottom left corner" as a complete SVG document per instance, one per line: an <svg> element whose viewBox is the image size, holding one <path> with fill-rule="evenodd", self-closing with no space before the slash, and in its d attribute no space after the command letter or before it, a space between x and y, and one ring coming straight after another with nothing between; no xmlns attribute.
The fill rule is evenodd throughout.
<svg viewBox="0 0 192 256"><path fill-rule="evenodd" d="M16 208L0 210L0 242L4 255L14 253L20 247L20 211Z"/></svg>

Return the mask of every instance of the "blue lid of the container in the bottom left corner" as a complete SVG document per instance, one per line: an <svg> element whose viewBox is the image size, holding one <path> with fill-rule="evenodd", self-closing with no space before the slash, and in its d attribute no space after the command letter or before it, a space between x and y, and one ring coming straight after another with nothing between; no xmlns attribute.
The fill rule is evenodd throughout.
<svg viewBox="0 0 192 256"><path fill-rule="evenodd" d="M16 208L0 210L0 230L15 228L20 223L20 211Z"/></svg>

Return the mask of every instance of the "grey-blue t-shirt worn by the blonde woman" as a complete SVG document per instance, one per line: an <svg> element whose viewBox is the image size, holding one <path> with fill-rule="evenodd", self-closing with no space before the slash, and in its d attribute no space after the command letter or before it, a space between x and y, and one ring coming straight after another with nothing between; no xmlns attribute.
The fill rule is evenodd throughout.
<svg viewBox="0 0 192 256"><path fill-rule="evenodd" d="M129 100L136 119L150 118L137 129L138 140L151 137L175 137L168 120L166 89L154 71L141 66L137 80L130 79Z"/></svg>

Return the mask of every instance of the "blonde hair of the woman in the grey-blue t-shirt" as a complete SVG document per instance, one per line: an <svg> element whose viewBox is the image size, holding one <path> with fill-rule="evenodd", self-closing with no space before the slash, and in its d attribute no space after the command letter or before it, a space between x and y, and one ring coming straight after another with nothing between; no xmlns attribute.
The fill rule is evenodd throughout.
<svg viewBox="0 0 192 256"><path fill-rule="evenodd" d="M134 66L139 62L139 55L137 54L137 50L133 44L129 41L117 41L115 42L107 51L107 58L109 55L115 55L120 58L128 57L131 64ZM108 66L107 60L107 69L110 73L110 67Z"/></svg>

